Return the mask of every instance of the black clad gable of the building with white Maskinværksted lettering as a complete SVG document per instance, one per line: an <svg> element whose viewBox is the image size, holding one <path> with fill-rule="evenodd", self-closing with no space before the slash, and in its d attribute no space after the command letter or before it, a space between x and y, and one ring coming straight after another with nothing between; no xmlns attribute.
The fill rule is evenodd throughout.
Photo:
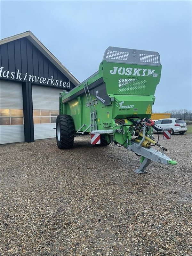
<svg viewBox="0 0 192 256"><path fill-rule="evenodd" d="M75 85L27 38L0 45L0 79L71 90Z"/></svg>

